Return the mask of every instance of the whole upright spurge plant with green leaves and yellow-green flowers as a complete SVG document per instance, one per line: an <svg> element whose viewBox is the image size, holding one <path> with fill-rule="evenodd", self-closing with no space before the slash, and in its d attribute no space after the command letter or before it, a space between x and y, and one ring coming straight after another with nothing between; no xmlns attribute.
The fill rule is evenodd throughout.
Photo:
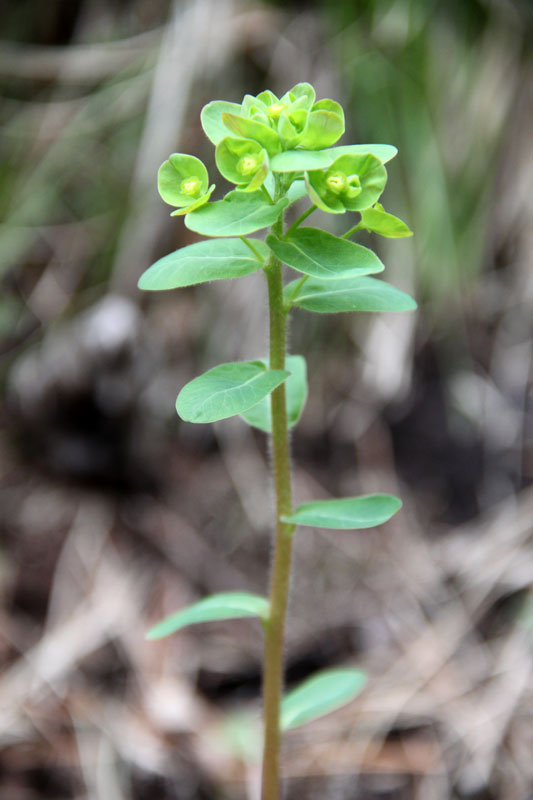
<svg viewBox="0 0 533 800"><path fill-rule="evenodd" d="M235 189L210 201L207 170L197 158L173 154L161 166L158 186L166 203L185 214L189 230L206 238L153 264L139 287L149 291L239 278L262 270L270 311L267 358L221 364L194 378L178 395L186 422L207 423L235 415L271 439L275 489L275 545L270 593L216 594L162 620L148 633L158 639L187 625L257 617L264 631L264 751L262 800L280 797L281 730L302 725L352 700L367 678L357 668L333 668L312 676L282 697L284 628L291 549L299 527L360 530L382 525L401 507L387 494L310 501L293 507L289 428L307 397L305 360L286 352L287 319L294 309L333 314L346 311L411 311L416 303L374 276L384 267L377 255L352 241L359 230L381 236L411 231L378 202L385 188L385 163L396 148L384 144L335 146L344 113L333 100L315 99L308 83L277 98L273 92L243 102L209 103L203 129L215 145L220 173ZM297 200L310 204L289 226L285 212ZM315 210L348 213L342 236L303 221ZM357 217L353 218L356 213ZM264 238L250 237L265 231ZM285 281L288 268L293 279ZM296 273L296 275L295 275ZM290 276L289 276L290 278Z"/></svg>

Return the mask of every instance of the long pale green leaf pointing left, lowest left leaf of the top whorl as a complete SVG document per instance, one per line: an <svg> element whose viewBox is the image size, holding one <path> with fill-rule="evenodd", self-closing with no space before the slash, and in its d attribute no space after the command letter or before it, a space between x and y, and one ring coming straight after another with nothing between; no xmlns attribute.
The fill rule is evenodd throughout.
<svg viewBox="0 0 533 800"><path fill-rule="evenodd" d="M254 247L265 260L268 248L254 239ZM206 281L240 278L264 266L241 239L208 239L182 247L152 264L138 286L145 291L179 289Z"/></svg>

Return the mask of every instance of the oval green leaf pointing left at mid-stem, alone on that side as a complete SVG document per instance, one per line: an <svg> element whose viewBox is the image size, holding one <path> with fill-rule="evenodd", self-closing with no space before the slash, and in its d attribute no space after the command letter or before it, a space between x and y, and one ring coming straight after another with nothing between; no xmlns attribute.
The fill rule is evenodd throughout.
<svg viewBox="0 0 533 800"><path fill-rule="evenodd" d="M261 361L220 364L183 387L176 409L186 422L216 422L255 406L290 375Z"/></svg>

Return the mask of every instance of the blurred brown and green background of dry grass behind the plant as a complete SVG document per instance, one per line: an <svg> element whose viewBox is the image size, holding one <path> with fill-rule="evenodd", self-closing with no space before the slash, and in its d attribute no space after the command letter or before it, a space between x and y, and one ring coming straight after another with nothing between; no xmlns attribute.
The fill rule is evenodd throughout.
<svg viewBox="0 0 533 800"><path fill-rule="evenodd" d="M156 171L182 151L215 175L202 106L304 80L344 143L399 148L384 204L415 236L361 241L420 309L294 314L296 500L404 509L297 536L288 684L371 680L286 737L287 800L527 800L531 3L2 0L0 31L1 800L256 797L257 623L143 636L266 590L264 437L174 411L265 354L265 286L136 283L194 241Z"/></svg>

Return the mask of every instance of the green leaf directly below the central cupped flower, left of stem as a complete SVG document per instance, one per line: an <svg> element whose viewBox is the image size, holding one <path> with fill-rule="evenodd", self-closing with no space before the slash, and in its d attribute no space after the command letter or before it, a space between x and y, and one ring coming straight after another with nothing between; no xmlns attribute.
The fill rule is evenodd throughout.
<svg viewBox="0 0 533 800"><path fill-rule="evenodd" d="M288 203L286 197L270 204L262 192L235 190L223 200L187 214L185 225L203 236L245 236L272 225Z"/></svg>

